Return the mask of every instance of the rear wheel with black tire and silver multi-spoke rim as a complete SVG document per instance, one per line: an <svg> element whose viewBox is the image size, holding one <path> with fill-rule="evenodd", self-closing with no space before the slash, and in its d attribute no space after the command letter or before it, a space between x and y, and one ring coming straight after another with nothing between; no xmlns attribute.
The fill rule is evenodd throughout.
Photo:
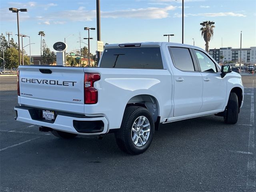
<svg viewBox="0 0 256 192"><path fill-rule="evenodd" d="M154 120L151 113L144 107L127 107L121 127L115 132L118 147L129 154L142 154L149 148L153 136Z"/></svg>

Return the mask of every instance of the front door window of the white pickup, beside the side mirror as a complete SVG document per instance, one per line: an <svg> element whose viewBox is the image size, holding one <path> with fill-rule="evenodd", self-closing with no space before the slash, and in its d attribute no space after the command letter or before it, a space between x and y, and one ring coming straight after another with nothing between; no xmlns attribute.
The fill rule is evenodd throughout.
<svg viewBox="0 0 256 192"><path fill-rule="evenodd" d="M216 66L210 58L201 51L195 50L202 72L216 72Z"/></svg>

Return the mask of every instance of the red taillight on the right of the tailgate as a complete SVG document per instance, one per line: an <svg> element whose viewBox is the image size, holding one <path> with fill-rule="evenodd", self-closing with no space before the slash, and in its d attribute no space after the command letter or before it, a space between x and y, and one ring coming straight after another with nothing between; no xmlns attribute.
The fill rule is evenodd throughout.
<svg viewBox="0 0 256 192"><path fill-rule="evenodd" d="M96 104L98 102L98 90L94 88L94 82L100 80L98 73L84 73L84 104Z"/></svg>

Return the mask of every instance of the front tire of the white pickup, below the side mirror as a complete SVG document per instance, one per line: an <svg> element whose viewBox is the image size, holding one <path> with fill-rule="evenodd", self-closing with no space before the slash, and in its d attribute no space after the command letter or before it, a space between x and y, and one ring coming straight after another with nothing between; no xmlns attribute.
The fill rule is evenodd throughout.
<svg viewBox="0 0 256 192"><path fill-rule="evenodd" d="M238 121L238 98L235 93L230 93L224 122L226 124L236 124Z"/></svg>

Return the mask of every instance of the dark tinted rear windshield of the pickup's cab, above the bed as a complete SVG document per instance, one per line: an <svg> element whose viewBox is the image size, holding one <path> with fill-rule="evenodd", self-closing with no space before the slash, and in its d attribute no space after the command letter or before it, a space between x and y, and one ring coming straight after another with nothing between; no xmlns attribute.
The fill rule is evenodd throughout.
<svg viewBox="0 0 256 192"><path fill-rule="evenodd" d="M102 68L163 69L159 47L105 49Z"/></svg>

